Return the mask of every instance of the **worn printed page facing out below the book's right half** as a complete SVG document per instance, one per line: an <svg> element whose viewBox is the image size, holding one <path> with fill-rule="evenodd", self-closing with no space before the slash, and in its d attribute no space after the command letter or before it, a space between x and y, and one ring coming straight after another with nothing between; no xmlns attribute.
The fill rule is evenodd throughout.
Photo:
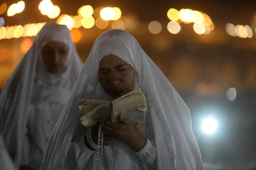
<svg viewBox="0 0 256 170"><path fill-rule="evenodd" d="M121 111L121 112L113 112L111 114L111 120L113 122L120 122L120 120L118 119L119 114L122 114L127 119L129 119L133 123L138 133L143 134L145 132L145 118L146 118L145 112L139 111L136 108L126 110L126 111Z"/></svg>

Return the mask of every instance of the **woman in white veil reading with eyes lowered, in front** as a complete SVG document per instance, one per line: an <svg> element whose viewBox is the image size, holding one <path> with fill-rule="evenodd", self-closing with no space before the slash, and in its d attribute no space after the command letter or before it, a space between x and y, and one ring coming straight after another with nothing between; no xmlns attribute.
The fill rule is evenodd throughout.
<svg viewBox="0 0 256 170"><path fill-rule="evenodd" d="M203 170L186 104L135 38L118 29L95 41L55 126L42 169L95 169L96 152L85 134L89 131L97 143L99 123L82 126L77 98L112 101L138 88L147 103L145 133L137 133L121 115L121 123L106 120L103 168Z"/></svg>

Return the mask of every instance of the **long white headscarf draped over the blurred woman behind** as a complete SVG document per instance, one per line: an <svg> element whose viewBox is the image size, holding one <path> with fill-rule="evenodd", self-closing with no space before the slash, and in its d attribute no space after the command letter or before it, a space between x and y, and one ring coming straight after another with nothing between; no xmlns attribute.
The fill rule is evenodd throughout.
<svg viewBox="0 0 256 170"><path fill-rule="evenodd" d="M41 50L50 41L68 46L66 69L61 74L51 74L46 70ZM46 86L67 89L71 92L83 64L65 25L46 24L38 32L30 50L7 80L0 96L0 130L7 150L16 166L21 162L21 148L24 140L28 106L31 102L35 82Z"/></svg>

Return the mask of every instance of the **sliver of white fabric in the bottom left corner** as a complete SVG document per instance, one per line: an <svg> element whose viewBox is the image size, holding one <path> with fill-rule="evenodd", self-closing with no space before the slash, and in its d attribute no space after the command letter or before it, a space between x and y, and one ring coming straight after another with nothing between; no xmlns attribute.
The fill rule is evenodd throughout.
<svg viewBox="0 0 256 170"><path fill-rule="evenodd" d="M0 134L0 165L2 170L16 170Z"/></svg>

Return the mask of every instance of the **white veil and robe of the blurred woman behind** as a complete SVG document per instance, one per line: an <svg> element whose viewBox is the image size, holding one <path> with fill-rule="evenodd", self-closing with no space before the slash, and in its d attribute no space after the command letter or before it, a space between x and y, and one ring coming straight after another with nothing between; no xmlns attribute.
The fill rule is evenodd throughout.
<svg viewBox="0 0 256 170"><path fill-rule="evenodd" d="M66 69L61 74L49 73L44 65L41 49L50 41L64 43L69 48ZM67 27L46 24L7 80L0 96L1 133L17 167L28 161L25 155L31 151L26 151L26 148L46 150L47 142L40 143L40 140L50 137L54 125L48 127L45 121L51 120L51 124L57 121L82 67ZM59 106L50 107L54 103ZM26 148L22 150L23 145ZM38 153L42 161L43 153ZM36 159L35 155L33 159Z"/></svg>

